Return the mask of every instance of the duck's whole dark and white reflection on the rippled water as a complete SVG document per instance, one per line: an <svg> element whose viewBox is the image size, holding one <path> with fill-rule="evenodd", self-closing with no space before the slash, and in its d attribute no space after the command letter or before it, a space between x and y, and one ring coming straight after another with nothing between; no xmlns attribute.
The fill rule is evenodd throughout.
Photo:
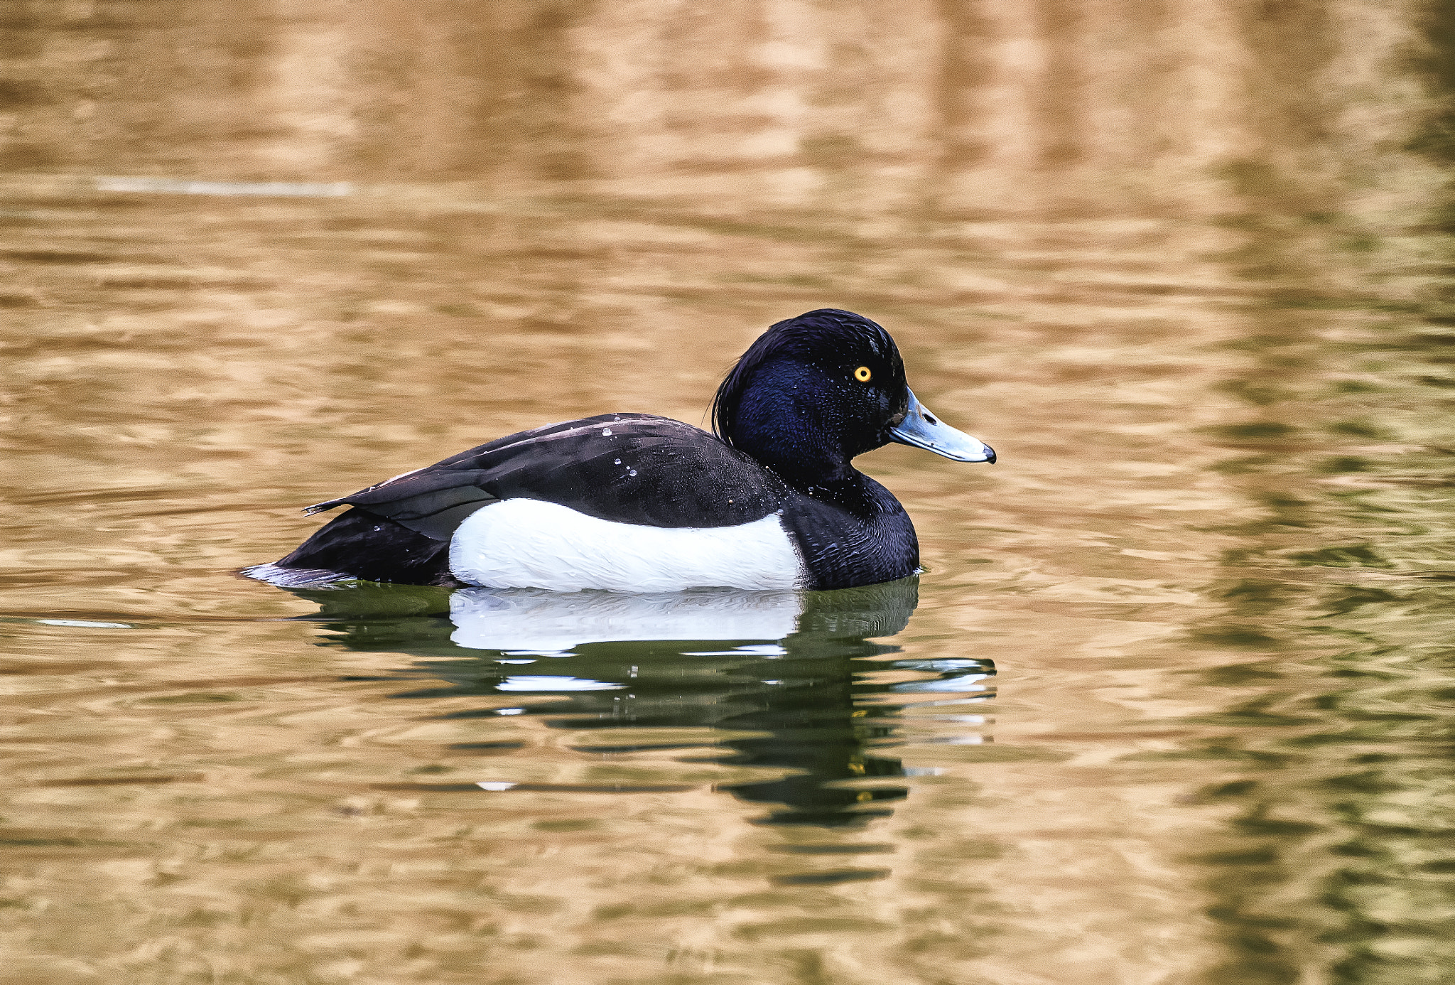
<svg viewBox="0 0 1455 985"><path fill-rule="evenodd" d="M834 592L294 591L320 604L314 618L324 620L330 643L412 653L425 658L412 674L447 681L399 697L496 698L451 717L528 714L554 729L630 727L634 739L652 727L725 730L711 745L730 754L716 762L765 767L776 778L719 789L773 805L760 819L770 825L844 828L892 813L888 805L908 789L882 778L906 774L886 752L899 743L905 698L989 697L982 681L995 672L982 659L896 661L899 647L874 642L908 624L917 578ZM877 682L886 677L895 681ZM535 700L501 707L505 695ZM880 781L851 783L866 778Z"/></svg>

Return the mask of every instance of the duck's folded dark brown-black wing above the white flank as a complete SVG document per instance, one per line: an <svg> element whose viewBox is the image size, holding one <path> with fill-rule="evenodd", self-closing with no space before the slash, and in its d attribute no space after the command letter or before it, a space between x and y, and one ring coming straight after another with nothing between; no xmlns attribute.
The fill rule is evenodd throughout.
<svg viewBox="0 0 1455 985"><path fill-rule="evenodd" d="M546 425L330 499L448 541L501 499L540 499L645 527L733 527L778 509L787 486L700 428L652 415L601 415Z"/></svg>

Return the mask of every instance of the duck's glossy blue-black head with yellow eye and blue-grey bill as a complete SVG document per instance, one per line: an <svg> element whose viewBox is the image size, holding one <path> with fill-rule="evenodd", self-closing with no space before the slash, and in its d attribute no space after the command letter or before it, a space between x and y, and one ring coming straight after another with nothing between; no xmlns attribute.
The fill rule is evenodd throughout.
<svg viewBox="0 0 1455 985"><path fill-rule="evenodd" d="M883 327L837 308L758 336L717 387L713 431L800 487L848 479L856 455L890 442L953 461L995 461L988 445L915 399Z"/></svg>

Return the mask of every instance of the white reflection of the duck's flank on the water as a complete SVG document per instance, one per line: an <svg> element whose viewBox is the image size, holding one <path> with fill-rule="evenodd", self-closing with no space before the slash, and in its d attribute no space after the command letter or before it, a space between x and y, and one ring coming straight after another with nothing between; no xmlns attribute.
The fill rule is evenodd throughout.
<svg viewBox="0 0 1455 985"><path fill-rule="evenodd" d="M455 624L450 639L476 650L531 653L607 640L781 640L797 629L802 611L802 598L789 591L627 595L461 588L450 597Z"/></svg>

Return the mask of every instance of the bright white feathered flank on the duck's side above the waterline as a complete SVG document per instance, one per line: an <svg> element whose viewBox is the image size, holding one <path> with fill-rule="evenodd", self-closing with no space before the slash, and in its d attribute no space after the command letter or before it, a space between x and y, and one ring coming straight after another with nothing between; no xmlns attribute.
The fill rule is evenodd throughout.
<svg viewBox="0 0 1455 985"><path fill-rule="evenodd" d="M797 551L773 514L739 527L640 527L537 499L470 514L450 543L450 570L470 585L554 592L784 589L803 581Z"/></svg>

